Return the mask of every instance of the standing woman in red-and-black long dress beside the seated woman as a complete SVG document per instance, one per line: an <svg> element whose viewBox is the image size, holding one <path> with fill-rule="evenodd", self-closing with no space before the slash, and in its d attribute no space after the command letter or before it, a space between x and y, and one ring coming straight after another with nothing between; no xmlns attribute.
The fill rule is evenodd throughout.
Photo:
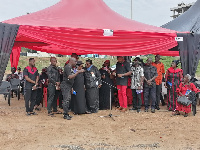
<svg viewBox="0 0 200 150"><path fill-rule="evenodd" d="M171 67L167 69L165 79L166 79L166 88L167 88L167 98L168 98L168 110L174 111L176 109L176 99L177 93L176 89L179 87L183 79L183 70L177 68L179 60L172 61Z"/></svg>

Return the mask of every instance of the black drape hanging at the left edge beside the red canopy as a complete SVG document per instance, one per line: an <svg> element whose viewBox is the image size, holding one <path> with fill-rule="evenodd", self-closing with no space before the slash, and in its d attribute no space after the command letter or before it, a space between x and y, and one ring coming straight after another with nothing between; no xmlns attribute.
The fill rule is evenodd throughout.
<svg viewBox="0 0 200 150"><path fill-rule="evenodd" d="M19 25L0 23L0 84L10 58Z"/></svg>

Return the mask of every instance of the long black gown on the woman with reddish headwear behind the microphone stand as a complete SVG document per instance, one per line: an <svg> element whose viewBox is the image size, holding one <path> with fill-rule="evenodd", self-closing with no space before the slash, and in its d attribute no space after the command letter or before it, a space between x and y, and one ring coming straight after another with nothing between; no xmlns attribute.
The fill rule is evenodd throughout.
<svg viewBox="0 0 200 150"><path fill-rule="evenodd" d="M99 109L106 110L110 109L110 86L108 84L113 85L112 80L110 79L110 74L103 70L102 68L99 70L101 75L105 75L105 79L101 78L102 86L99 89ZM108 84L106 84L106 83ZM111 88L111 98L113 97L113 89Z"/></svg>

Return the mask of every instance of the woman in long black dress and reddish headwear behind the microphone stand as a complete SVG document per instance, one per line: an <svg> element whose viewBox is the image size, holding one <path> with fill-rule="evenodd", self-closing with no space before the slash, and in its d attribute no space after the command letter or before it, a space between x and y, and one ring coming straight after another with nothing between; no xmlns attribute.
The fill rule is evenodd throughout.
<svg viewBox="0 0 200 150"><path fill-rule="evenodd" d="M106 60L103 67L99 70L101 73L102 86L99 89L99 109L110 109L110 85L113 85L111 80L110 61ZM106 83L105 83L106 82ZM111 88L111 98L113 98L113 89Z"/></svg>

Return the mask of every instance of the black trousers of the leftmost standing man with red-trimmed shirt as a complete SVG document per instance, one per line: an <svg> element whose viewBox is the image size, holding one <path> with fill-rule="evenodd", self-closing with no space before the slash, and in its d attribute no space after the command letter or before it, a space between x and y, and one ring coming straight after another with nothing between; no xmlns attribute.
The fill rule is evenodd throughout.
<svg viewBox="0 0 200 150"><path fill-rule="evenodd" d="M37 91L32 90L32 89L26 89L25 91L26 92L25 92L24 98L25 98L26 112L33 112L36 96L37 96Z"/></svg>

